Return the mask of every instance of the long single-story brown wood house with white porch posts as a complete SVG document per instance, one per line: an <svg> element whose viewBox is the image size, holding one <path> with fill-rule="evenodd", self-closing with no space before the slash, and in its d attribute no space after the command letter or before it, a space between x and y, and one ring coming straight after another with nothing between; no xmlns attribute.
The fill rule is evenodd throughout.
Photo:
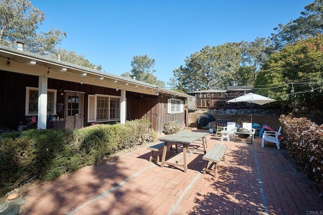
<svg viewBox="0 0 323 215"><path fill-rule="evenodd" d="M81 128L92 123L148 119L161 133L171 120L186 122L193 96L96 69L0 45L0 125L18 129ZM55 120L54 120L55 119ZM57 119L59 119L57 121Z"/></svg>

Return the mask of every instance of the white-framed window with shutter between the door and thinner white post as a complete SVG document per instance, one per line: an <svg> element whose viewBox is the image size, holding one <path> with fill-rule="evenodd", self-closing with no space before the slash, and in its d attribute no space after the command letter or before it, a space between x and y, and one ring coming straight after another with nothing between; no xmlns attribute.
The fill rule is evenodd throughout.
<svg viewBox="0 0 323 215"><path fill-rule="evenodd" d="M88 122L120 120L120 98L106 95L88 96Z"/></svg>

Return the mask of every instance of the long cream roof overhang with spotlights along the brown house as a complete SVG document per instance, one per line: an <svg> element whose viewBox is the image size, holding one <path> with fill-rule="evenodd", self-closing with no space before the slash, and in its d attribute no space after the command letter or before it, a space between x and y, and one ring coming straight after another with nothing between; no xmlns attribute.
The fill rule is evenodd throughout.
<svg viewBox="0 0 323 215"><path fill-rule="evenodd" d="M180 93L168 88L158 87L137 80L106 73L105 71L99 71L94 68L92 69L84 66L79 66L73 63L52 59L46 56L21 51L3 45L0 45L0 57L3 58L2 61L4 61L4 63L0 64L0 68L3 70L8 70L8 67L5 67L5 61L12 60L15 63L25 64L25 66L27 67L43 67L43 70L54 71L55 73L50 74L51 77L48 78L59 80L77 80L77 82L82 79L82 82L84 84L104 86L109 88L117 88L118 86L120 90L150 95L157 95L158 93L160 93L174 97L192 97L188 94ZM84 76L85 74L86 76Z"/></svg>

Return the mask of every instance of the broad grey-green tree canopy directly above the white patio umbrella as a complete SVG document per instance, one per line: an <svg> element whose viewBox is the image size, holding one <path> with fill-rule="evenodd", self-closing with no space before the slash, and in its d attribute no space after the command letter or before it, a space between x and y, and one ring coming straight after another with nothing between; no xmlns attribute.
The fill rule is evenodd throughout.
<svg viewBox="0 0 323 215"><path fill-rule="evenodd" d="M267 40L205 46L185 59L185 66L173 70L172 87L184 92L253 85L263 60L268 56Z"/></svg>

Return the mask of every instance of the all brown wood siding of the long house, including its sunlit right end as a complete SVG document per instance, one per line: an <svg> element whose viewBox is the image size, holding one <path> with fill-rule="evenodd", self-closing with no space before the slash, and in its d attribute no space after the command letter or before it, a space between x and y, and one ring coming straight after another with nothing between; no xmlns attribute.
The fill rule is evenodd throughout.
<svg viewBox="0 0 323 215"><path fill-rule="evenodd" d="M17 130L19 121L24 120L26 87L38 88L38 77L0 70L0 125ZM115 88L81 85L80 83L48 79L48 89L57 90L57 103L65 103L65 94L61 96L60 89L84 93L84 126L87 123L88 95L102 94L120 96ZM167 121L178 121L181 126L185 123L184 113L168 114L166 95L154 96L134 92L126 92L127 120L145 118L151 121L151 128L161 133ZM178 98L184 100L184 98ZM64 106L65 107L65 106ZM64 108L59 113L65 118Z"/></svg>

